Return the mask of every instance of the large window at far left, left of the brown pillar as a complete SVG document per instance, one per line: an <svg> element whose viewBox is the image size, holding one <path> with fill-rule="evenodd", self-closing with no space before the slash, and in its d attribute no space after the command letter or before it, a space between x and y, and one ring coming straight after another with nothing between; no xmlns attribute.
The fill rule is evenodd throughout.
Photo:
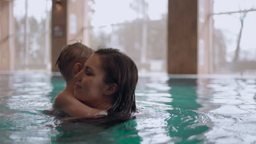
<svg viewBox="0 0 256 144"><path fill-rule="evenodd" d="M15 70L50 70L51 0L15 0Z"/></svg>

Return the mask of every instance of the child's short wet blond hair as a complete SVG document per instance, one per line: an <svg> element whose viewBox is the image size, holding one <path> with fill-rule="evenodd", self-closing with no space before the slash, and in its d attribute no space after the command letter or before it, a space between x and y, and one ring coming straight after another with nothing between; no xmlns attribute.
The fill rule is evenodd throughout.
<svg viewBox="0 0 256 144"><path fill-rule="evenodd" d="M88 59L92 52L94 52L94 50L79 42L66 45L62 49L55 67L58 65L60 73L65 81L69 81L72 78L72 69L74 64L81 63L84 65L84 62L86 59Z"/></svg>

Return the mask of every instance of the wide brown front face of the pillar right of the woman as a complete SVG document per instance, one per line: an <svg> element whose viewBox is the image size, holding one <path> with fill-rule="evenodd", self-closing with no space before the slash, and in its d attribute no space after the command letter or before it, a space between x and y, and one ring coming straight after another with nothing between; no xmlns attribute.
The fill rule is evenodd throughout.
<svg viewBox="0 0 256 144"><path fill-rule="evenodd" d="M168 74L197 74L197 0L168 1Z"/></svg>

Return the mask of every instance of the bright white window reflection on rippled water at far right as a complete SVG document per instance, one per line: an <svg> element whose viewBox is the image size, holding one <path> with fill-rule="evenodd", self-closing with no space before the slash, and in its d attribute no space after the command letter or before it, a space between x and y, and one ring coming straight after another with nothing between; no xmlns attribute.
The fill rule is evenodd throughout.
<svg viewBox="0 0 256 144"><path fill-rule="evenodd" d="M216 109L205 111L214 124L205 136L209 142L255 143L256 80L211 79L206 87Z"/></svg>

